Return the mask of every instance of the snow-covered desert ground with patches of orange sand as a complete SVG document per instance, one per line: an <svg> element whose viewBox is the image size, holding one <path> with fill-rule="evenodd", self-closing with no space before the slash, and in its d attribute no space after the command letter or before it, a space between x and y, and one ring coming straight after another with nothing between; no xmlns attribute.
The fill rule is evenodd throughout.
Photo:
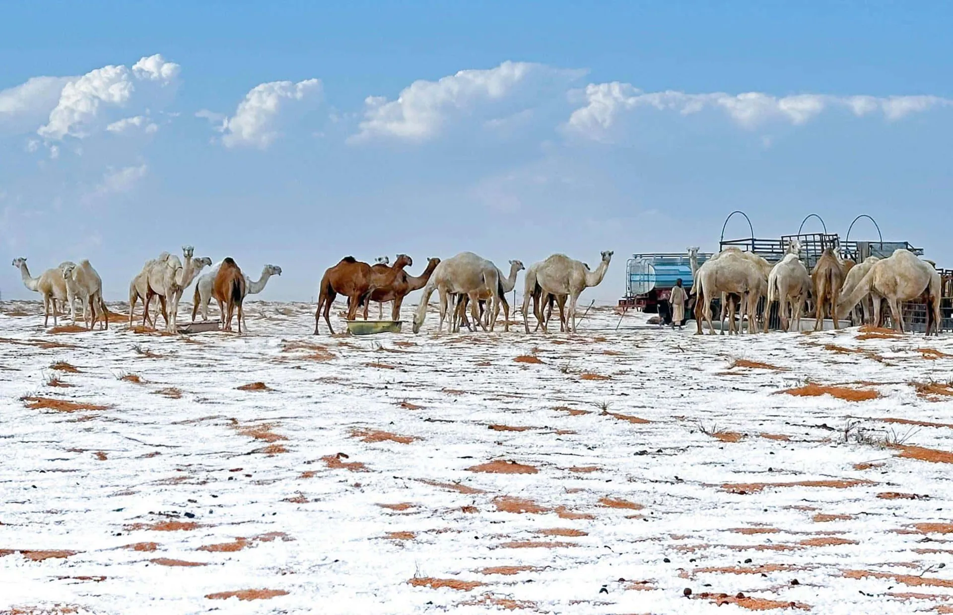
<svg viewBox="0 0 953 615"><path fill-rule="evenodd" d="M0 312L0 613L953 612L953 337Z"/></svg>

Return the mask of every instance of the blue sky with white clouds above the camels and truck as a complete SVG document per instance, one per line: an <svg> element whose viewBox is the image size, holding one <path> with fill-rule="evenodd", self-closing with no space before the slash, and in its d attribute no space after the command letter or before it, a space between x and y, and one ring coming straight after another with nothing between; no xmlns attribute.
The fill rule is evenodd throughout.
<svg viewBox="0 0 953 615"><path fill-rule="evenodd" d="M342 256L598 264L873 216L953 267L943 2L43 2L0 20L0 249L232 256L313 300ZM805 232L821 230L817 218ZM740 216L726 238L749 236ZM876 239L865 219L851 239ZM517 282L521 288L522 280ZM13 267L3 298L38 298Z"/></svg>

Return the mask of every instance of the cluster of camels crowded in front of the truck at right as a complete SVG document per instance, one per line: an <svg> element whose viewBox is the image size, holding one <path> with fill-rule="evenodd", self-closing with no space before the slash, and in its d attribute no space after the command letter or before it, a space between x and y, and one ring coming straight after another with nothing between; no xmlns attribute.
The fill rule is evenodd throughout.
<svg viewBox="0 0 953 615"><path fill-rule="evenodd" d="M890 309L893 326L903 331L901 304L922 300L926 304L926 335L939 335L941 312L941 278L936 267L908 250L897 250L891 256L870 256L861 264L842 259L828 248L823 251L808 273L801 262L801 245L795 240L787 247L787 254L775 265L764 258L731 247L712 256L698 267L698 248L689 248L694 285L697 295L695 319L698 334L701 322L708 323L709 334L714 333L711 319L711 301L721 298L722 315L728 311L729 333L736 333L735 313L741 306L739 332L743 332L744 316L748 315L748 332L756 330L755 320L760 316L767 332L768 311L779 301L781 328L788 331L791 322L801 328L801 313L808 298L814 302L815 330L821 328L823 318L829 315L834 328L853 313L854 321L869 324L882 322L882 302ZM764 297L762 314L757 306ZM861 308L861 311L858 310ZM860 313L862 312L862 314ZM722 330L723 332L723 330Z"/></svg>

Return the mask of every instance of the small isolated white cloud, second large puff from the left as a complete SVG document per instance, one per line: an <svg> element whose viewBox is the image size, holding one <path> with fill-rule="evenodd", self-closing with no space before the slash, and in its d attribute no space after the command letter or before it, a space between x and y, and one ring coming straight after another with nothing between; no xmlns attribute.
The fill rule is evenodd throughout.
<svg viewBox="0 0 953 615"><path fill-rule="evenodd" d="M281 134L283 125L314 109L321 97L320 79L257 85L238 103L235 114L222 120L218 129L223 133L222 143L226 147L253 146L264 150ZM205 110L195 114L212 121L217 115Z"/></svg>

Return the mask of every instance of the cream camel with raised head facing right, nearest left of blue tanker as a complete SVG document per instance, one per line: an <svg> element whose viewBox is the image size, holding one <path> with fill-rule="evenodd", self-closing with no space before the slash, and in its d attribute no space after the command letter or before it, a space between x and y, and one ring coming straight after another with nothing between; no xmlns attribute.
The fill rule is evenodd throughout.
<svg viewBox="0 0 953 615"><path fill-rule="evenodd" d="M609 262L612 260L612 250L602 252L596 271L590 271L588 265L574 260L569 256L556 254L549 256L545 260L537 263L534 270L535 276L531 279L526 276L526 288L529 293L523 297L523 323L526 326L526 333L530 331L530 325L527 321L529 312L529 299L538 284L541 294L549 294L557 297L565 295L569 297L569 310L566 313L566 331L576 333L576 303L579 295L590 286L598 286L605 277L605 272L609 269ZM542 315L536 314L537 320L542 321ZM560 317L561 319L561 317ZM542 322L543 332L547 332L547 323Z"/></svg>

